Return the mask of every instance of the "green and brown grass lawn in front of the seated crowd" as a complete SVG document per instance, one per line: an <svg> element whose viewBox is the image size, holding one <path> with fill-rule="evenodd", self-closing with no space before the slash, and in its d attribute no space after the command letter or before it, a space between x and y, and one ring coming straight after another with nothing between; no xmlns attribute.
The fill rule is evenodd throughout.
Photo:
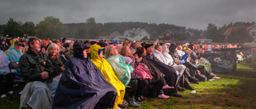
<svg viewBox="0 0 256 109"><path fill-rule="evenodd" d="M138 109L166 109L166 108L255 108L256 107L256 62L251 64L243 62L238 69L230 75L215 73L222 77L219 80L192 84L197 91L179 92L182 98L170 99L146 98ZM0 108L17 109L18 96L10 99L10 95L0 99ZM133 108L133 107L129 107ZM134 108L135 109L135 108Z"/></svg>

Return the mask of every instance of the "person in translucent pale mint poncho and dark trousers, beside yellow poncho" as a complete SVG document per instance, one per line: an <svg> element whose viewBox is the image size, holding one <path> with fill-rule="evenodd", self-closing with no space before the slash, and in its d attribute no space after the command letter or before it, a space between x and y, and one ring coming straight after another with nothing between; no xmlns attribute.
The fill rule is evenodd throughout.
<svg viewBox="0 0 256 109"><path fill-rule="evenodd" d="M126 89L126 94L129 95L129 105L133 107L140 107L140 105L134 101L134 96L137 91L137 80L134 77L131 78L131 72L134 71L134 68L132 67L132 65L134 65L133 60L131 60L130 57L121 56L118 54L118 49L114 45L108 46L105 54L106 60L114 69L118 79L122 81L122 84L125 84L125 86L129 85L130 88L133 89L132 91L127 90L129 88Z"/></svg>

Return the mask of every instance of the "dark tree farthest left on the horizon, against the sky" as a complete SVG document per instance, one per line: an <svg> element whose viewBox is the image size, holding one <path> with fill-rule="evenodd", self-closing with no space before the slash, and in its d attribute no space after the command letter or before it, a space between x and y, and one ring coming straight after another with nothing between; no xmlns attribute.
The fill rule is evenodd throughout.
<svg viewBox="0 0 256 109"><path fill-rule="evenodd" d="M21 25L21 22L10 18L6 23L6 28L3 29L3 34L9 35L9 37L23 37L24 33L22 32Z"/></svg>

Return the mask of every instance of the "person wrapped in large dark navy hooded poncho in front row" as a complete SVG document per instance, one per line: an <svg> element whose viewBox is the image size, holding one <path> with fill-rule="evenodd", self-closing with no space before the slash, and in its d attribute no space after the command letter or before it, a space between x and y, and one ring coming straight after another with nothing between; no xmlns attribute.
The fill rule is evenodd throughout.
<svg viewBox="0 0 256 109"><path fill-rule="evenodd" d="M90 47L74 45L74 56L66 61L65 70L54 97L54 108L104 109L114 107L117 92L95 64L88 60Z"/></svg>

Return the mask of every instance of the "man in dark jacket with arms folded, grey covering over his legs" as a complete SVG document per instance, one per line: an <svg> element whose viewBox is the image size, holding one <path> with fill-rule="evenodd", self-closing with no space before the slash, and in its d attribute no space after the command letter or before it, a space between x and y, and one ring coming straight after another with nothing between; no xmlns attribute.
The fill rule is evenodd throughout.
<svg viewBox="0 0 256 109"><path fill-rule="evenodd" d="M37 37L28 41L29 49L18 60L26 83L22 91L20 108L52 108L52 96L46 80L53 72L53 64L44 53Z"/></svg>

